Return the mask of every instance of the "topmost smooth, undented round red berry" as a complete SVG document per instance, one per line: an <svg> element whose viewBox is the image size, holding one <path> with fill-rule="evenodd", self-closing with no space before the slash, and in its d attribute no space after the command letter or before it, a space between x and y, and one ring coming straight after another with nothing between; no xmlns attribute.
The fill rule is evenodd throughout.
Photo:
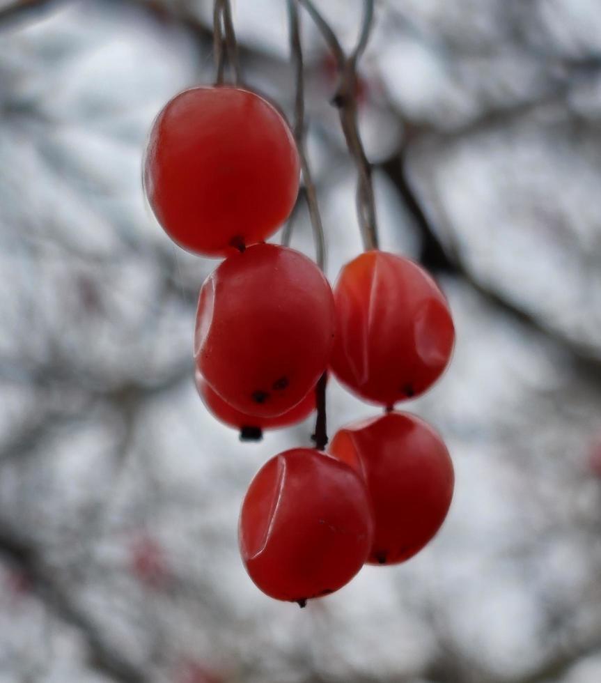
<svg viewBox="0 0 601 683"><path fill-rule="evenodd" d="M175 243L224 256L265 240L288 217L299 187L294 137L256 93L187 90L153 124L144 187Z"/></svg>

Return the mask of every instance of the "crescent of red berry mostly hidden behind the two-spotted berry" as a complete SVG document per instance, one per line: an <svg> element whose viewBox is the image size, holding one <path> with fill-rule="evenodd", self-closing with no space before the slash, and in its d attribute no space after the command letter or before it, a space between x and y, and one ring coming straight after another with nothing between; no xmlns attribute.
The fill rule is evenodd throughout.
<svg viewBox="0 0 601 683"><path fill-rule="evenodd" d="M241 413L240 410L236 410L226 403L205 382L198 368L196 368L194 373L194 382L196 383L198 394L203 399L203 404L205 404L210 413L217 417L219 422L223 422L229 427L235 427L235 429L242 429L243 427L259 427L260 429L290 427L291 424L304 420L305 417L311 415L313 410L315 410L315 388L311 389L309 394L297 406L287 410L286 413L276 417L257 417L256 415Z"/></svg>

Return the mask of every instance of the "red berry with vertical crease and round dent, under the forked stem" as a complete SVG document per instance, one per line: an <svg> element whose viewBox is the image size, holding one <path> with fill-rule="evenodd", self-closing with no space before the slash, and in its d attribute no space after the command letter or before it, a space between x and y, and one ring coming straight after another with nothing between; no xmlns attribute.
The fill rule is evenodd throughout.
<svg viewBox="0 0 601 683"><path fill-rule="evenodd" d="M360 397L393 406L426 391L446 368L455 342L451 312L413 261L361 254L342 269L334 300L331 368Z"/></svg>

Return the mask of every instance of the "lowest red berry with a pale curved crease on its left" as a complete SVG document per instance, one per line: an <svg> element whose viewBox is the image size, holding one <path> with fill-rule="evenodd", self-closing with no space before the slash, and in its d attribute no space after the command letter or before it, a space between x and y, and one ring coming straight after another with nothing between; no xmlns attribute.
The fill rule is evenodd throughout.
<svg viewBox="0 0 601 683"><path fill-rule="evenodd" d="M302 603L342 588L364 565L372 534L361 477L308 448L268 461L240 512L244 565L258 588L278 600Z"/></svg>

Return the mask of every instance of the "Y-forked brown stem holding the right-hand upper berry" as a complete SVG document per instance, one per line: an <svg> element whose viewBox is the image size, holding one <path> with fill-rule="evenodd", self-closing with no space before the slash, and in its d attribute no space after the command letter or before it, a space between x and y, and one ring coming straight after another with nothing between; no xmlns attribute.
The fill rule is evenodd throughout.
<svg viewBox="0 0 601 683"><path fill-rule="evenodd" d="M357 168L357 214L366 250L377 249L377 223L371 178L371 165L366 157L357 123L357 62L368 43L373 25L373 0L364 0L364 18L359 40L347 57L338 38L311 0L299 0L322 33L338 68L338 87L332 103L338 107L341 127L350 155Z"/></svg>

